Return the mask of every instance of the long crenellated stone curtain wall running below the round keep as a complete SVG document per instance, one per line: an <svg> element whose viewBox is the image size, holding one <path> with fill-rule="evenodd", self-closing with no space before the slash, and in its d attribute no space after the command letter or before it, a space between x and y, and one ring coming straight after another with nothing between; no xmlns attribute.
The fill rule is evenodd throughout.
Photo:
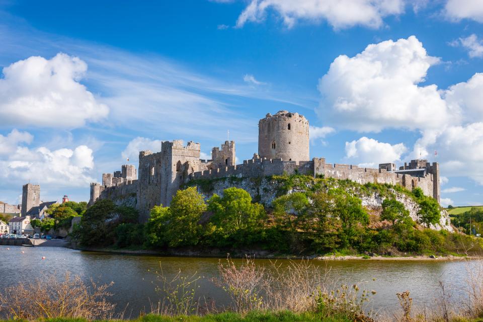
<svg viewBox="0 0 483 322"><path fill-rule="evenodd" d="M407 174L397 174L385 169L360 168L352 165L328 164L325 158L313 158L311 161L283 161L282 159L250 159L244 160L243 165L222 167L215 170L195 172L187 177L192 179L215 179L222 177L266 177L273 175L304 174L309 176L324 176L339 180L351 180L359 184L380 183L400 185L408 190L420 187L424 194L438 200L434 194L434 175L414 177ZM439 186L439 185L437 185Z"/></svg>

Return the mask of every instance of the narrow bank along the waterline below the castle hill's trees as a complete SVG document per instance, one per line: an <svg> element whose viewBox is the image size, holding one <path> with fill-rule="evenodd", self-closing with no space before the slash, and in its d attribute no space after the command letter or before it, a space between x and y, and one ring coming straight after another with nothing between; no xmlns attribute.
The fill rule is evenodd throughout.
<svg viewBox="0 0 483 322"><path fill-rule="evenodd" d="M367 256L367 255L329 255L329 256L295 256L286 254L275 254L268 251L229 251L222 252L220 250L211 251L194 251L194 250L171 250L171 251L156 251L156 250L144 250L144 249L116 249L116 248L83 248L83 247L71 247L67 248L98 253L112 253L112 254L127 254L127 255L150 255L150 256L173 256L173 257L202 257L202 258L245 258L247 256L258 259L310 259L320 261L462 261L462 260L478 260L483 259L482 256Z"/></svg>

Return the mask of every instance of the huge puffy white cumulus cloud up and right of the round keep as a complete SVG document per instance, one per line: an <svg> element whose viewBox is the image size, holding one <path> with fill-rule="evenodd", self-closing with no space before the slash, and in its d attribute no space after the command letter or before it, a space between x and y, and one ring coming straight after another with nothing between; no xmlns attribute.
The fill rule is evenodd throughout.
<svg viewBox="0 0 483 322"><path fill-rule="evenodd" d="M341 55L319 80L317 112L358 131L440 128L457 122L436 85L418 85L439 61L415 36L371 44L354 57Z"/></svg>

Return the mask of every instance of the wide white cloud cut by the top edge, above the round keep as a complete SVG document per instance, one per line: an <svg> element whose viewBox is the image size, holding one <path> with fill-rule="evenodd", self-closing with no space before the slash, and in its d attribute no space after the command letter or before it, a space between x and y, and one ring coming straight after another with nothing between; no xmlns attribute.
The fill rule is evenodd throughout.
<svg viewBox="0 0 483 322"><path fill-rule="evenodd" d="M386 16L404 13L403 0L252 0L236 21L241 28L247 22L263 21L267 11L277 12L288 28L298 20L327 21L334 29L356 25L382 26Z"/></svg>

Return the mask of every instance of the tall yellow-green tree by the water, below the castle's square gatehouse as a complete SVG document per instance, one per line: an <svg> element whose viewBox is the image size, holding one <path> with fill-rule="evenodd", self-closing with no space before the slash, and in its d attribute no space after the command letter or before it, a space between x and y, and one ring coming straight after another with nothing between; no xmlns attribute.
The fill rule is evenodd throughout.
<svg viewBox="0 0 483 322"><path fill-rule="evenodd" d="M166 225L166 238L169 240L169 246L198 244L202 233L200 219L205 211L205 201L196 187L178 190L171 200L169 220Z"/></svg>

